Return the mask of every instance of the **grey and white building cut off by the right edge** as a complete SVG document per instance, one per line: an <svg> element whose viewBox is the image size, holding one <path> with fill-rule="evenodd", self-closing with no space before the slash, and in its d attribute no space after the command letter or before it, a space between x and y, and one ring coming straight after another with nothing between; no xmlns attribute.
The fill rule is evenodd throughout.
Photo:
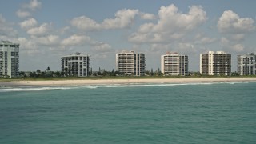
<svg viewBox="0 0 256 144"><path fill-rule="evenodd" d="M238 74L256 75L256 55L254 53L238 55Z"/></svg>

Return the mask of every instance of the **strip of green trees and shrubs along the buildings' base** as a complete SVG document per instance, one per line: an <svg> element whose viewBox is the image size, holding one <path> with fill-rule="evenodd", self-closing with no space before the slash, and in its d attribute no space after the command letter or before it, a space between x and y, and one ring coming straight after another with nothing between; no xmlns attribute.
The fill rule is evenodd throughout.
<svg viewBox="0 0 256 144"><path fill-rule="evenodd" d="M100 69L99 69L100 70ZM248 76L240 76L238 73L234 72L231 76L226 75L202 75L199 72L189 72L188 76L170 76L164 75L159 70L153 72L153 70L146 71L146 76L136 77L126 74L120 74L118 71L90 71L89 77L78 77L78 76L66 76L65 72L61 71L50 71L50 67L47 67L45 71L36 70L30 72L20 72L19 78L1 78L0 82L8 82L8 81L45 81L45 80L77 80L77 79L129 79L129 78L255 78L256 75L248 75Z"/></svg>

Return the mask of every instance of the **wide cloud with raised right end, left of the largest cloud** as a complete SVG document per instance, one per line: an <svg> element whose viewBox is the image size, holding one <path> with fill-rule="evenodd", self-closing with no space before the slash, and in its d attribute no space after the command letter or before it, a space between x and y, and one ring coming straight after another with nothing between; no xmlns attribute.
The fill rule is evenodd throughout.
<svg viewBox="0 0 256 144"><path fill-rule="evenodd" d="M86 16L73 18L71 25L80 30L111 30L130 27L134 22L134 18L138 14L138 10L118 10L115 18L106 18L102 23L95 22Z"/></svg>

